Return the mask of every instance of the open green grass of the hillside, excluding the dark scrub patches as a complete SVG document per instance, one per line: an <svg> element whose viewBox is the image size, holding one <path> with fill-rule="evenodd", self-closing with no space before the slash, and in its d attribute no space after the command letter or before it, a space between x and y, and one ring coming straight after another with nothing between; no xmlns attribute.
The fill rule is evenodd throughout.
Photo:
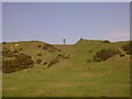
<svg viewBox="0 0 132 99"><path fill-rule="evenodd" d="M13 43L9 43L13 44ZM40 50L42 42L21 42L23 52L35 61L40 56L50 62L59 53L69 54L47 68L35 64L33 68L12 74L3 74L3 97L129 97L130 95L130 56L116 55L106 62L87 63L103 48L116 48L122 43L82 40L75 45L53 45L62 52L48 53ZM32 47L32 48L31 48ZM89 53L89 51L92 51Z"/></svg>

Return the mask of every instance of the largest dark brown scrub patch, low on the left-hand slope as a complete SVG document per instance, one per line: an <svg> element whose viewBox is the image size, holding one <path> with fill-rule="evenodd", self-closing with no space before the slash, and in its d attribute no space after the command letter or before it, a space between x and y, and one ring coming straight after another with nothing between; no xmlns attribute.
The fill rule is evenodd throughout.
<svg viewBox="0 0 132 99"><path fill-rule="evenodd" d="M6 58L6 57L4 57ZM15 54L12 58L2 59L2 72L14 73L34 65L32 57L26 54Z"/></svg>

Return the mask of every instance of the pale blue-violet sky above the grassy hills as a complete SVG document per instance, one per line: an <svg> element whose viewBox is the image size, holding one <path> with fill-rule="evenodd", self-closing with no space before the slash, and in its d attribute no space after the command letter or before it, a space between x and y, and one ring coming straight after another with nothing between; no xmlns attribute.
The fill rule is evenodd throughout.
<svg viewBox="0 0 132 99"><path fill-rule="evenodd" d="M3 2L2 41L130 40L129 2Z"/></svg>

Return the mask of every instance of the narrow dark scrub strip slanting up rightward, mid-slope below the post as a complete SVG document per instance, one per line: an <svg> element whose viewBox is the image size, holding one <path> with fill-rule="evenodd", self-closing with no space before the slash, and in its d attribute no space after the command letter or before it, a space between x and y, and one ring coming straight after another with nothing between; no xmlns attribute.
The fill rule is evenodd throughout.
<svg viewBox="0 0 132 99"><path fill-rule="evenodd" d="M47 65L47 67L51 67L52 65L59 63L61 59L66 59L69 58L69 55L64 55L64 54L58 54L57 57L55 57L53 61L50 62L50 64Z"/></svg>

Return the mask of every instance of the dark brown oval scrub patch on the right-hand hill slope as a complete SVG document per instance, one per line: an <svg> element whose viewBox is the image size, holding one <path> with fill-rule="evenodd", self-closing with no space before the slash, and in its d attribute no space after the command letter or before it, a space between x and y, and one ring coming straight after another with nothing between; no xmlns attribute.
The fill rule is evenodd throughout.
<svg viewBox="0 0 132 99"><path fill-rule="evenodd" d="M94 62L103 62L117 54L121 53L118 50L101 50L94 56Z"/></svg>

